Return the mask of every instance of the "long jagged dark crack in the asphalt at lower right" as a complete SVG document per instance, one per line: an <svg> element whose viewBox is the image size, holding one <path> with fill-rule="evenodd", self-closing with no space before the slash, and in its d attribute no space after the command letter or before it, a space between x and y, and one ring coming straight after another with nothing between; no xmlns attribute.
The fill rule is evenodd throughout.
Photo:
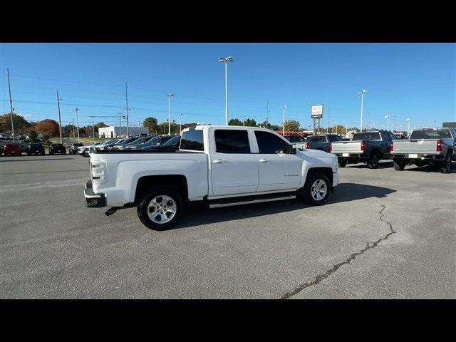
<svg viewBox="0 0 456 342"><path fill-rule="evenodd" d="M314 286L316 284L319 284L320 281L322 281L323 279L328 278L328 276L331 276L331 274L333 274L335 271L337 271L339 268L341 268L341 266L346 265L346 264L350 264L350 262L353 259L356 259L356 257L358 255L363 254L364 252L368 251L368 249L373 249L373 248L377 247L378 244L380 244L380 242L382 242L385 239L388 239L388 237L390 237L390 235L395 234L396 232L393 229L393 224L391 224L391 222L388 222L385 219L383 219L383 216L384 216L383 215L383 211L386 209L385 205L381 204L381 203L379 203L379 204L382 206L382 209L380 210L380 212L378 212L378 214L380 214L380 221L381 222L385 222L386 224L388 224L388 227L390 228L390 232L388 232L388 234L386 234L384 237L381 237L380 239L378 239L378 240L376 240L374 242L367 242L366 243L366 247L364 249L361 249L361 251L351 254L351 256L348 257L348 259L346 259L346 261L343 261L343 262L340 262L338 264L333 265L333 267L331 269L328 269L328 271L326 271L323 274L318 274L318 276L316 276L313 281L307 281L306 283L300 284L299 286L297 286L296 289L294 289L292 291L289 291L289 292L286 292L286 294L281 296L280 299L289 299L291 296L299 294L299 292L303 291L304 289L306 289L306 288L308 288L310 286Z"/></svg>

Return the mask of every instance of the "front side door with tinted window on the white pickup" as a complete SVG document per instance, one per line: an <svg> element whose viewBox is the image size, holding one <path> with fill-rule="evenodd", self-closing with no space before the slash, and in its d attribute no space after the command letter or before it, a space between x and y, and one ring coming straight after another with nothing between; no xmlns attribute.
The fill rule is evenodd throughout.
<svg viewBox="0 0 456 342"><path fill-rule="evenodd" d="M297 189L301 182L301 158L290 154L289 143L274 133L254 132L259 150L258 191Z"/></svg>

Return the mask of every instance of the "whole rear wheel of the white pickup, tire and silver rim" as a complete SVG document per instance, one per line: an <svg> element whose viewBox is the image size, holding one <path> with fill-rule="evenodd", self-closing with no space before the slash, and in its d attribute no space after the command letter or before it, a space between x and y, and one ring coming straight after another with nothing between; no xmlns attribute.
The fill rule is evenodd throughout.
<svg viewBox="0 0 456 342"><path fill-rule="evenodd" d="M136 208L142 224L153 230L174 227L182 217L183 210L182 197L166 187L152 187L142 195Z"/></svg>

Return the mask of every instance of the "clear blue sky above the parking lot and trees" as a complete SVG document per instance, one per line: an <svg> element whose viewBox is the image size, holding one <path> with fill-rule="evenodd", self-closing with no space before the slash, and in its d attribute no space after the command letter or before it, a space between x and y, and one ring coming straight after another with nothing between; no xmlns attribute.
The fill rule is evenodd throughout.
<svg viewBox="0 0 456 342"><path fill-rule="evenodd" d="M153 116L178 122L224 124L224 66L228 66L229 118L311 125L312 104L323 103L323 127L348 123L432 126L456 121L456 44L454 43L1 43L0 113L9 113L8 81L15 113L27 120L56 120L56 90L63 125L91 122L90 115L125 111L128 82L130 122ZM115 118L95 118L117 124Z"/></svg>

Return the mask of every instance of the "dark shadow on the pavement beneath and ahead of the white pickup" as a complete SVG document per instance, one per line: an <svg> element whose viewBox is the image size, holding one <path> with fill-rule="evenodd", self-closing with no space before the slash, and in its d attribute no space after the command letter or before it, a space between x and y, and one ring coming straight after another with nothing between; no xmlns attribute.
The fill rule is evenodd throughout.
<svg viewBox="0 0 456 342"><path fill-rule="evenodd" d="M336 191L331 194L326 205L339 202L350 202L364 198L383 198L396 190L387 187L375 187L372 185L341 183ZM264 202L257 204L246 204L241 206L224 207L217 209L206 209L202 205L192 204L187 209L180 223L175 228L194 227L204 224L231 221L234 219L249 219L252 217L278 214L280 212L292 212L303 208L311 209L312 206L304 204L299 199L287 199L277 202Z"/></svg>

